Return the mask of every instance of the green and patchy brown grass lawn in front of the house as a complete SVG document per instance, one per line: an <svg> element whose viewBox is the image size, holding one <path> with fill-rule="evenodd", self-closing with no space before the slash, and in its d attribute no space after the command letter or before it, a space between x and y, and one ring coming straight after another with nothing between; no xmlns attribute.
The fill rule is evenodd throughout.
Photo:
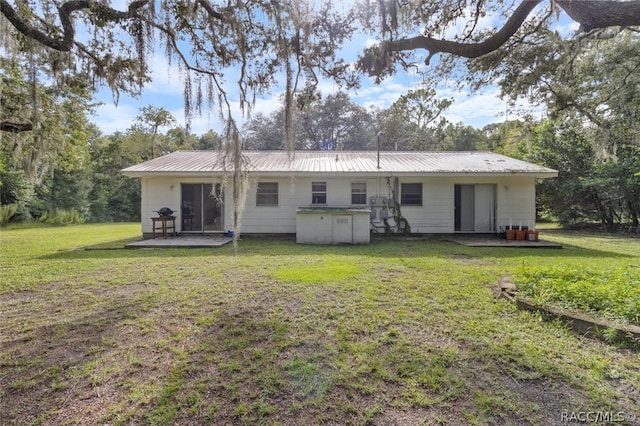
<svg viewBox="0 0 640 426"><path fill-rule="evenodd" d="M638 424L638 352L492 287L523 268L640 268L640 239L121 249L139 233L1 231L0 424Z"/></svg>

